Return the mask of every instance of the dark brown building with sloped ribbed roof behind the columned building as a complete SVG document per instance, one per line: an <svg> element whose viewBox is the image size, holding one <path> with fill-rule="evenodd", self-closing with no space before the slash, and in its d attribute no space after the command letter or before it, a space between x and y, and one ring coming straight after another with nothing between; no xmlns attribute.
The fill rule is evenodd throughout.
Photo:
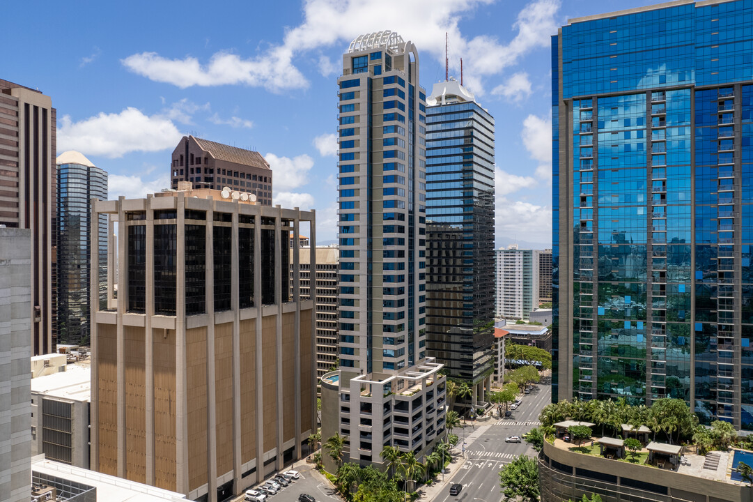
<svg viewBox="0 0 753 502"><path fill-rule="evenodd" d="M197 188L223 187L255 194L262 206L272 205L272 170L259 152L183 136L172 151L172 188L187 181Z"/></svg>

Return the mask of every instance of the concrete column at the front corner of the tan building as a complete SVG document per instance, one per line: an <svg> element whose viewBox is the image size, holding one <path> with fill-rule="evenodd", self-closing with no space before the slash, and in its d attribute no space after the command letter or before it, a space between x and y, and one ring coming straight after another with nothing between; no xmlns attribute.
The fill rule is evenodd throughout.
<svg viewBox="0 0 753 502"><path fill-rule="evenodd" d="M185 195L178 193L175 294L175 491L188 494L188 389L186 384Z"/></svg>

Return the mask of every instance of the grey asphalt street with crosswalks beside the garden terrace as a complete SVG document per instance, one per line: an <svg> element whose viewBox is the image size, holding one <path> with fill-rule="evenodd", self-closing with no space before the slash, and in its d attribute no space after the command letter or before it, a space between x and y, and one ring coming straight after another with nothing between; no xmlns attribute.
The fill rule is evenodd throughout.
<svg viewBox="0 0 753 502"><path fill-rule="evenodd" d="M536 452L525 441L520 443L505 442L507 436L523 436L533 427L538 426L538 414L551 402L551 386L538 385L530 394L522 398L523 403L513 415L501 420L477 422L465 430L458 431L459 436L470 436L465 447L465 464L453 476L451 482L461 483L463 489L458 496L447 492L434 498L434 502L499 502L501 486L499 471L518 455L535 457ZM453 430L453 433L455 431Z"/></svg>

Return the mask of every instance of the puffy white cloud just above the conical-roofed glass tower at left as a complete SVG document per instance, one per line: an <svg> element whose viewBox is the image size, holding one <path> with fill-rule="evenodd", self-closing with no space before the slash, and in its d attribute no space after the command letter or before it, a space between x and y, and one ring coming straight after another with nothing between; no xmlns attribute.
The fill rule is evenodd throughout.
<svg viewBox="0 0 753 502"><path fill-rule="evenodd" d="M175 124L162 115L145 115L129 107L120 113L100 113L73 122L64 115L58 125L60 152L78 150L84 155L122 157L130 152L159 152L174 148L182 135Z"/></svg>

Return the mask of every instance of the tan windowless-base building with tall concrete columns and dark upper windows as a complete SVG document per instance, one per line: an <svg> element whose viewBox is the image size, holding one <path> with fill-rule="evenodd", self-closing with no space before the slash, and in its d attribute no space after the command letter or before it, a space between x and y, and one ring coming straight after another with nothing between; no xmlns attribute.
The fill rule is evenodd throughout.
<svg viewBox="0 0 753 502"><path fill-rule="evenodd" d="M300 458L316 432L316 298L291 286L289 240L310 222L316 242L314 213L206 189L93 207L110 235L118 222L118 253L92 312L92 468L225 500Z"/></svg>

